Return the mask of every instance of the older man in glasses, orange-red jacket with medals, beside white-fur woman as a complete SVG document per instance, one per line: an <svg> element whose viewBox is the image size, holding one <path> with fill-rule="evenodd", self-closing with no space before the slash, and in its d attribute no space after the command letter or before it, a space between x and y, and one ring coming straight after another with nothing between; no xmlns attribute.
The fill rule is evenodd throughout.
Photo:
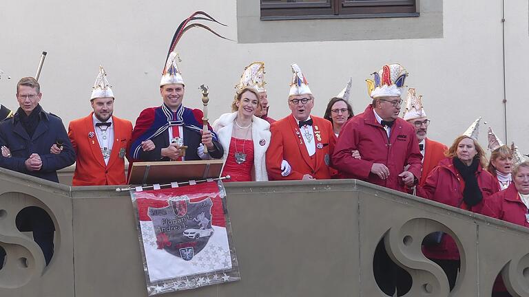
<svg viewBox="0 0 529 297"><path fill-rule="evenodd" d="M311 115L314 97L297 64L292 64L291 114L270 126L267 150L270 180L330 179L330 156L336 142L331 122ZM291 172L289 173L289 168Z"/></svg>

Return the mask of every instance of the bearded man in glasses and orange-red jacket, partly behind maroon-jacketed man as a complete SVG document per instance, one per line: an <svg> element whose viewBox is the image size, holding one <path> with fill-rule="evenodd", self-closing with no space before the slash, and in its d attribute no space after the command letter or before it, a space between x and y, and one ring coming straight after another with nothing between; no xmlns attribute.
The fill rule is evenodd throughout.
<svg viewBox="0 0 529 297"><path fill-rule="evenodd" d="M428 177L431 170L439 164L439 161L444 159L444 152L447 151L448 148L446 145L426 137L430 120L428 120L426 112L424 112L422 96L417 97L414 88L408 89L406 110L404 110L402 118L408 123L413 124L415 127L415 135L417 135L419 149L423 155L422 173L421 178L419 179L419 186L423 186L426 182L426 177Z"/></svg>

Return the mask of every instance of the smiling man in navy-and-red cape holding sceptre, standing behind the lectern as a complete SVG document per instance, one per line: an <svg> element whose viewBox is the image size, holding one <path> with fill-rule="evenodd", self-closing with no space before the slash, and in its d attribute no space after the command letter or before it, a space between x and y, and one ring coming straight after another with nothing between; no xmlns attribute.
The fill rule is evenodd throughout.
<svg viewBox="0 0 529 297"><path fill-rule="evenodd" d="M216 134L202 130L203 112L184 107L185 85L172 52L160 81L160 107L144 109L132 132L129 155L142 161L181 161L220 159L224 155ZM183 155L183 146L187 146Z"/></svg>

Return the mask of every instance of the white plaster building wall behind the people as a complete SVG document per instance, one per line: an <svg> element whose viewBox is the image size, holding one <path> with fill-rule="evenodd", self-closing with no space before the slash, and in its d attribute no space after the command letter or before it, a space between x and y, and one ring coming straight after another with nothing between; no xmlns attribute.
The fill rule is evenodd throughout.
<svg viewBox="0 0 529 297"><path fill-rule="evenodd" d="M442 39L242 44L194 28L177 46L186 81L185 104L200 107L198 86L209 85L209 118L217 118L229 111L242 69L251 61L264 61L273 118L289 113L291 63L300 65L314 92L313 114L323 114L327 100L349 76L353 109L359 113L370 102L364 83L369 74L385 63L402 63L410 73L407 85L424 95L431 138L450 144L479 115L504 137L501 8L501 0L444 1ZM12 79L1 78L0 102L17 107L17 80L34 76L45 50L48 58L40 79L45 110L65 123L87 115L101 64L114 86L114 114L134 122L143 108L160 104L158 83L169 41L180 21L195 10L227 23L227 28L209 25L237 40L234 0L2 1L0 69ZM506 1L508 141L515 140L525 153L528 11L526 0ZM486 146L484 125L480 140Z"/></svg>

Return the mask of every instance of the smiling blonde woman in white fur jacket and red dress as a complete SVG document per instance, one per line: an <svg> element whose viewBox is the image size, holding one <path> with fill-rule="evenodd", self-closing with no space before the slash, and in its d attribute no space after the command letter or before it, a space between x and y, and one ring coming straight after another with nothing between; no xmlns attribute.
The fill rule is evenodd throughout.
<svg viewBox="0 0 529 297"><path fill-rule="evenodd" d="M260 104L253 87L237 91L231 104L233 113L220 115L213 128L224 148L222 176L229 181L267 181L266 152L270 144L270 124L254 115Z"/></svg>

